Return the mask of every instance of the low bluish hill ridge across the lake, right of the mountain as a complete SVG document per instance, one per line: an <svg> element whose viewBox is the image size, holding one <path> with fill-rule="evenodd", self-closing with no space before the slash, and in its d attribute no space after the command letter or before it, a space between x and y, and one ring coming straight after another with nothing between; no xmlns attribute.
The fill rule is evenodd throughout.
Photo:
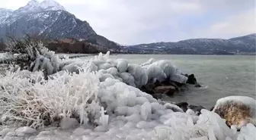
<svg viewBox="0 0 256 140"><path fill-rule="evenodd" d="M139 54L256 54L256 34L232 39L187 39L126 46L124 53Z"/></svg>

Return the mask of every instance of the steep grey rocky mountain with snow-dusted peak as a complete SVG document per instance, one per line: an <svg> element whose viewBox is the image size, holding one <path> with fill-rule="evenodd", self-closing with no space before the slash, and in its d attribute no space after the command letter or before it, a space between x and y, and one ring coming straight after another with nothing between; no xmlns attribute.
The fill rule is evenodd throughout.
<svg viewBox="0 0 256 140"><path fill-rule="evenodd" d="M99 36L88 22L79 20L54 0L31 0L24 7L11 11L0 9L0 39L26 35L43 39L86 39L96 45L117 49L115 42Z"/></svg>

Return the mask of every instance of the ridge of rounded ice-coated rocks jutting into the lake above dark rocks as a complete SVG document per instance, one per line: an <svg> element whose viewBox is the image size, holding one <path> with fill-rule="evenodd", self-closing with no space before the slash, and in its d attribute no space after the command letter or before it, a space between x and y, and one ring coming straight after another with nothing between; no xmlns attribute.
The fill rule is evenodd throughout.
<svg viewBox="0 0 256 140"><path fill-rule="evenodd" d="M155 61L151 58L144 64L129 64L125 59L110 59L109 52L107 54L100 53L90 61L66 60L60 64L61 70L68 70L70 73L78 73L79 67L88 67L89 71L98 71L101 73L100 78L103 82L107 78L118 79L130 86L140 88L148 82L156 80L162 82L164 80L186 83L187 77L181 74L170 61Z"/></svg>

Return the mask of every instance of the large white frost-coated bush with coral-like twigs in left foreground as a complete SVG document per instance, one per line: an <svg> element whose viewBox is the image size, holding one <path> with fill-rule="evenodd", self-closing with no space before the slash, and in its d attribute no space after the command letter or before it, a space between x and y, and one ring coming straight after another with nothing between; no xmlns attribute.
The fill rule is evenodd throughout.
<svg viewBox="0 0 256 140"><path fill-rule="evenodd" d="M2 76L0 81L0 114L8 117L8 125L40 128L63 117L74 117L80 123L100 117L98 73L88 73L85 68L79 74L65 72L47 81L37 81L32 76L33 84L30 79L15 75Z"/></svg>

